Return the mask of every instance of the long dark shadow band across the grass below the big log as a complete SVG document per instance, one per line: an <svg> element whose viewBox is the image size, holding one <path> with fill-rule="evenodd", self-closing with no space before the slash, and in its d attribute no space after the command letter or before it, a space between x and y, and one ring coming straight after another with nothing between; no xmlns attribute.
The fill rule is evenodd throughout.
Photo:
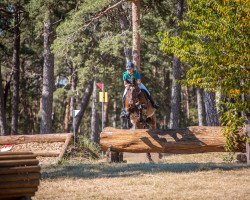
<svg viewBox="0 0 250 200"><path fill-rule="evenodd" d="M112 177L133 177L141 174L154 173L187 173L199 171L229 171L247 169L246 165L230 163L162 163L162 164L66 164L45 169L42 179L58 178L112 178Z"/></svg>

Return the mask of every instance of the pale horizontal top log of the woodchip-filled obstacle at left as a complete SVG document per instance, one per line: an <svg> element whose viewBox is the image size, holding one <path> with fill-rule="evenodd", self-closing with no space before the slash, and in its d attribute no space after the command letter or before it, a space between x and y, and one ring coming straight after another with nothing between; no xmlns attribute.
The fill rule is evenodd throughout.
<svg viewBox="0 0 250 200"><path fill-rule="evenodd" d="M61 133L61 134L37 134L37 135L11 135L11 136L0 136L0 145L3 144L24 144L29 142L65 142L68 135L72 133Z"/></svg>

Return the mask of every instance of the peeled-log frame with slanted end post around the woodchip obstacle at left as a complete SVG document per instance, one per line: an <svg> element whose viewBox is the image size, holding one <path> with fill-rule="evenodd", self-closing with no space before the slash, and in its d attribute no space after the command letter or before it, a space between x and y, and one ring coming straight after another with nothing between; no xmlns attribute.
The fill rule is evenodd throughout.
<svg viewBox="0 0 250 200"><path fill-rule="evenodd" d="M73 137L72 133L60 133L60 134L37 134L37 135L11 135L11 136L0 136L0 145L5 144L26 144L26 143L53 143L63 142L61 151L38 151L33 152L36 156L41 157L57 157L56 163L59 163Z"/></svg>

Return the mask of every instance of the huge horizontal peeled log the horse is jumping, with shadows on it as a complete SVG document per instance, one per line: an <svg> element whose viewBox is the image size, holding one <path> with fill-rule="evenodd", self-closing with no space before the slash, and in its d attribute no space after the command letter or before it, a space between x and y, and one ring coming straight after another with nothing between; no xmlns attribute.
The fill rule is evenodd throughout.
<svg viewBox="0 0 250 200"><path fill-rule="evenodd" d="M222 127L193 126L185 129L124 130L107 127L100 135L103 151L192 154L223 152Z"/></svg>

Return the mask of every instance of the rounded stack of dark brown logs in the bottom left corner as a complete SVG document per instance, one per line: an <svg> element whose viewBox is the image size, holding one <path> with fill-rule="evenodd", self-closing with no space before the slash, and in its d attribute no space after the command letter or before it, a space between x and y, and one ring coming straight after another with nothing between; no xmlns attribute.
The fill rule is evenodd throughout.
<svg viewBox="0 0 250 200"><path fill-rule="evenodd" d="M32 152L0 152L0 199L30 199L38 190L41 168Z"/></svg>

